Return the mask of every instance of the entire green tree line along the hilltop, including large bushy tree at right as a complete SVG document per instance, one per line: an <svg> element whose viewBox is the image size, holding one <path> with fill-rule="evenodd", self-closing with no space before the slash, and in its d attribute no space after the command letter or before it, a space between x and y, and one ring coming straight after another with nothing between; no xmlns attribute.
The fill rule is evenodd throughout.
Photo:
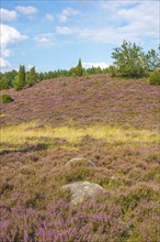
<svg viewBox="0 0 160 242"><path fill-rule="evenodd" d="M155 50L145 53L140 45L124 41L121 47L113 50L112 58L114 59L113 65L105 69L100 67L85 69L82 67L81 59L79 59L76 67L69 70L58 69L46 73L37 73L35 67L26 72L25 66L20 65L19 72L0 73L0 89L14 88L15 90L21 90L45 79L106 73L110 73L112 76L129 78L150 76L151 84L160 85L160 55Z"/></svg>

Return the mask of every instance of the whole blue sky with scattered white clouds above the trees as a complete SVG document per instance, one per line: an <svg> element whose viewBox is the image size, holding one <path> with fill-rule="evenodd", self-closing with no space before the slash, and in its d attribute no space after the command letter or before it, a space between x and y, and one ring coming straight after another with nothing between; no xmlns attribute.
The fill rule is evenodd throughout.
<svg viewBox="0 0 160 242"><path fill-rule="evenodd" d="M107 67L123 41L158 50L159 0L2 0L1 72Z"/></svg>

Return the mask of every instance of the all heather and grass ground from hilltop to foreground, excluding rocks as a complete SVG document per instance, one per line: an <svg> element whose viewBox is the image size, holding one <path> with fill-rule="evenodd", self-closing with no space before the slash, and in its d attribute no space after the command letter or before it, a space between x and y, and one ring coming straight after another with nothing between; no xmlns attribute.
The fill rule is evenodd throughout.
<svg viewBox="0 0 160 242"><path fill-rule="evenodd" d="M99 74L8 92L14 101L0 105L0 241L160 240L159 86ZM95 166L68 172L73 157ZM61 187L75 182L105 194L72 205Z"/></svg>

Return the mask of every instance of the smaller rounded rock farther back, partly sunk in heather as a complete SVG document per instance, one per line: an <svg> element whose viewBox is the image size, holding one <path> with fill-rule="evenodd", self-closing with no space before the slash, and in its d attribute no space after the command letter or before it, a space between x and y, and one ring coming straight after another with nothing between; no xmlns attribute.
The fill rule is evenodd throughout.
<svg viewBox="0 0 160 242"><path fill-rule="evenodd" d="M88 158L72 158L66 163L65 167L67 169L76 168L76 167L95 167L95 164Z"/></svg>

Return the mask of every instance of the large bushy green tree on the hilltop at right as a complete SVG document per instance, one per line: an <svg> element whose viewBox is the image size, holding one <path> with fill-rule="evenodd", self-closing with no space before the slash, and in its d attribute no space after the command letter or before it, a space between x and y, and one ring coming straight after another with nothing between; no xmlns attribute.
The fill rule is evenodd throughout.
<svg viewBox="0 0 160 242"><path fill-rule="evenodd" d="M114 48L112 58L122 76L141 77L146 74L146 56L142 48L135 43L124 41L121 47Z"/></svg>

